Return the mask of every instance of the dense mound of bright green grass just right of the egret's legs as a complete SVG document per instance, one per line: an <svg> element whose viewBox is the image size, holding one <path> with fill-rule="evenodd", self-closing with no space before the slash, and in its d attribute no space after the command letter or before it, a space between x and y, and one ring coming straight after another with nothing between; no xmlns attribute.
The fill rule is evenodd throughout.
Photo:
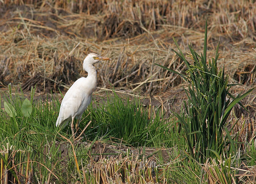
<svg viewBox="0 0 256 184"><path fill-rule="evenodd" d="M139 98L120 96L113 89L113 94L107 93L107 98L95 105L95 108L88 108L80 123L83 129L92 121L91 128L85 131L87 139L94 140L98 136L115 142L122 140L132 146L152 146L155 141L161 141L161 146L164 142L169 144L169 119L164 119L157 108L150 114Z"/></svg>

